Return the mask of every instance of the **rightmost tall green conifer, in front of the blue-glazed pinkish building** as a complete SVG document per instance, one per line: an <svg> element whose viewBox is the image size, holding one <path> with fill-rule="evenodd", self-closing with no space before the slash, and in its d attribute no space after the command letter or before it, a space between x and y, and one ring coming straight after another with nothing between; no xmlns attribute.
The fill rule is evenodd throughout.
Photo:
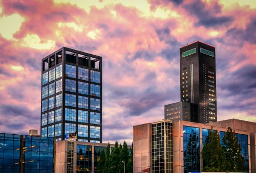
<svg viewBox="0 0 256 173"><path fill-rule="evenodd" d="M246 170L244 157L241 154L241 146L238 143L236 133L229 127L222 138L223 149L227 160L226 171L242 172Z"/></svg>

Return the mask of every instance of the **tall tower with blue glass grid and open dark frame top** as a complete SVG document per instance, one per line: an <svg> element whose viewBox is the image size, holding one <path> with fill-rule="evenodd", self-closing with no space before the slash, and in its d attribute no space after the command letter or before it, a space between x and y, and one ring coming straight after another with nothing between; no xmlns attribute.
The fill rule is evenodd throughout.
<svg viewBox="0 0 256 173"><path fill-rule="evenodd" d="M102 58L62 47L41 62L41 135L101 142Z"/></svg>

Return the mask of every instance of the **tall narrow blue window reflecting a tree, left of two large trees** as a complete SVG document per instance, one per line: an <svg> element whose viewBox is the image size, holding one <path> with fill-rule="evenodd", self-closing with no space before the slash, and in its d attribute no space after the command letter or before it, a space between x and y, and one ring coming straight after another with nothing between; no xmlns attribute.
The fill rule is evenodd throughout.
<svg viewBox="0 0 256 173"><path fill-rule="evenodd" d="M200 171L199 128L183 126L184 173Z"/></svg>

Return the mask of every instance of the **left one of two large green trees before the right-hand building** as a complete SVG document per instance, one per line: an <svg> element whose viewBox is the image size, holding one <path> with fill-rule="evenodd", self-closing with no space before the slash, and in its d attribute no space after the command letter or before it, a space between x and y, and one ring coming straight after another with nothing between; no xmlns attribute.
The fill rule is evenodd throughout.
<svg viewBox="0 0 256 173"><path fill-rule="evenodd" d="M204 171L225 171L226 157L217 131L209 130L204 142L202 158Z"/></svg>

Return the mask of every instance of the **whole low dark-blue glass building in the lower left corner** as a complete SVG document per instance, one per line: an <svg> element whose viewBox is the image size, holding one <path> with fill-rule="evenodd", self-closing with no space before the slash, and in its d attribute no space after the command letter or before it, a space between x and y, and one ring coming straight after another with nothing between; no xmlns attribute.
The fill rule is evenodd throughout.
<svg viewBox="0 0 256 173"><path fill-rule="evenodd" d="M53 138L0 133L0 172L53 172L53 154Z"/></svg>

